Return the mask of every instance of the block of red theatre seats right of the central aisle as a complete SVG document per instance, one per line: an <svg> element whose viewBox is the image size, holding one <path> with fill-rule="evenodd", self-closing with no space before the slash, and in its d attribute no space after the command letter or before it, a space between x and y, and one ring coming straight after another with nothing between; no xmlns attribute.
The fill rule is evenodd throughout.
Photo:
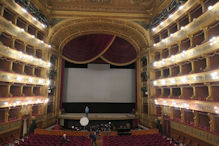
<svg viewBox="0 0 219 146"><path fill-rule="evenodd" d="M130 135L130 136L105 136L104 146L174 146L166 137L160 134Z"/></svg>

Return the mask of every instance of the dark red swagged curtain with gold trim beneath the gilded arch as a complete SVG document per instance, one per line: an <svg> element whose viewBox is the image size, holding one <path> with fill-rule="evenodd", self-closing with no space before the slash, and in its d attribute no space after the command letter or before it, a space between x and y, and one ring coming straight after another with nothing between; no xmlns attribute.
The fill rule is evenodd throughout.
<svg viewBox="0 0 219 146"><path fill-rule="evenodd" d="M114 65L127 65L136 60L135 48L126 40L109 34L89 34L69 41L63 48L63 57L73 63L95 60Z"/></svg>

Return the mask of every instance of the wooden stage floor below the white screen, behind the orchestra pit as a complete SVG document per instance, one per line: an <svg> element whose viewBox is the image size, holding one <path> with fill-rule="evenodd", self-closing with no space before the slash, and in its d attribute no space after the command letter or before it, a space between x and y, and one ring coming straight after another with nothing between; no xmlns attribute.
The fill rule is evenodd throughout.
<svg viewBox="0 0 219 146"><path fill-rule="evenodd" d="M59 119L80 120L85 113L63 113ZM133 120L137 116L130 113L89 113L89 120Z"/></svg>

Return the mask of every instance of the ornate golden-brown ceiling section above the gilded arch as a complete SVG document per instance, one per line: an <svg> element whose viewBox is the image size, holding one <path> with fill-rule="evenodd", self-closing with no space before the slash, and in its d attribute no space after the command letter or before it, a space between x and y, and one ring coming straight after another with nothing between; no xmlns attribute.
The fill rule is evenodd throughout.
<svg viewBox="0 0 219 146"><path fill-rule="evenodd" d="M171 0L33 0L50 18L105 16L149 22ZM46 4L45 4L46 2ZM40 7L40 6L39 6ZM45 12L45 11L44 11Z"/></svg>

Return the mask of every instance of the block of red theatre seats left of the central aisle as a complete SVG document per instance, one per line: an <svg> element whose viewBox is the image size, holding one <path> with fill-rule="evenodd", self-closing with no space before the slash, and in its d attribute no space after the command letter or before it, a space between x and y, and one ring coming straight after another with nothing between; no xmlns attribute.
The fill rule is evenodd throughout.
<svg viewBox="0 0 219 146"><path fill-rule="evenodd" d="M91 140L85 136L67 136L67 143L61 142L61 135L30 135L15 146L89 146Z"/></svg>

